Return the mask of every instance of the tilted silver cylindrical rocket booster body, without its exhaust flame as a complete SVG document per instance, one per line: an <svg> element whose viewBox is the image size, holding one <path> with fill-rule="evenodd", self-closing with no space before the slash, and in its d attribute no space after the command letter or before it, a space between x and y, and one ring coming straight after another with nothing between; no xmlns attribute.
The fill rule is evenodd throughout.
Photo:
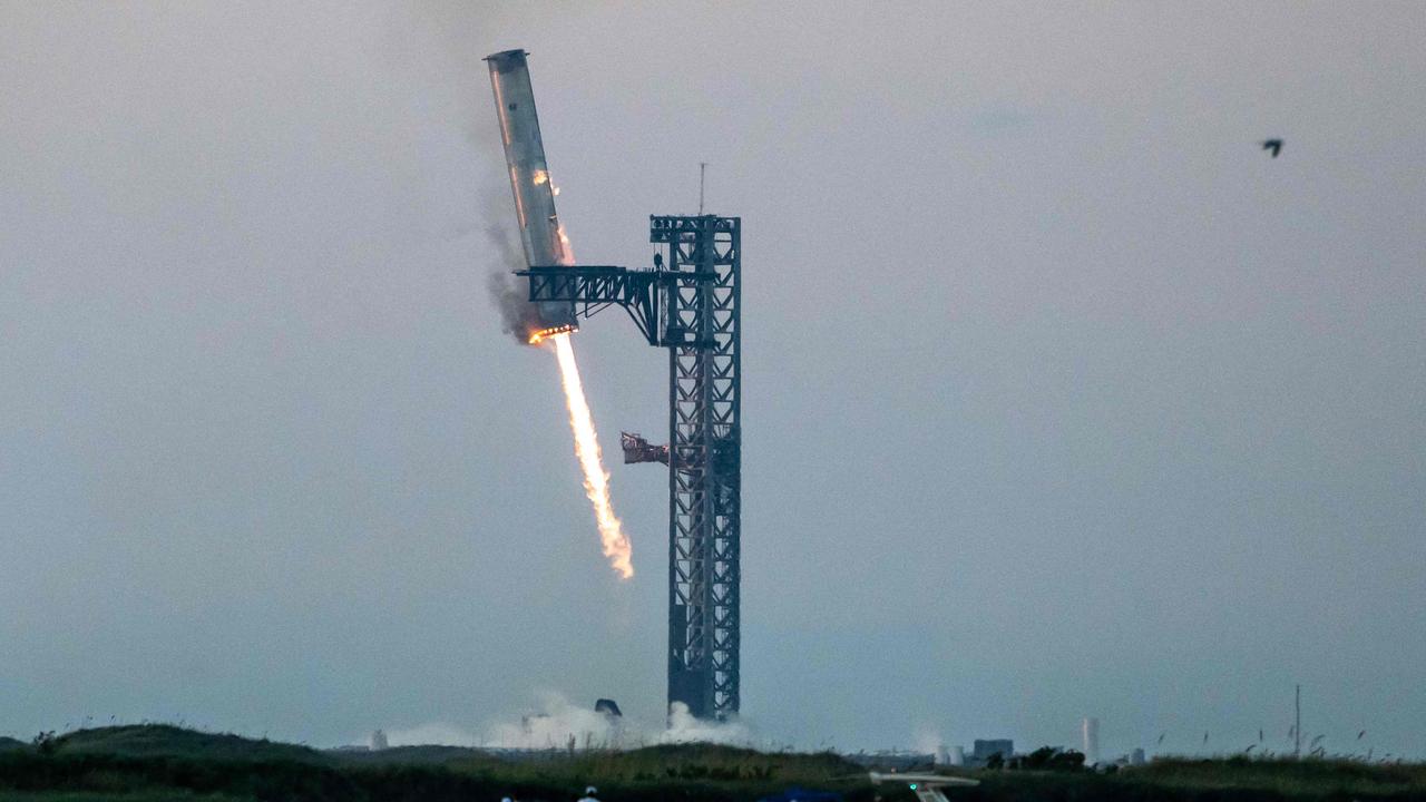
<svg viewBox="0 0 1426 802"><path fill-rule="evenodd" d="M511 171L511 191L515 193L520 244L525 245L529 267L572 265L575 255L555 214L555 187L545 164L545 143L539 136L535 90L530 88L525 56L523 50L506 50L485 57L491 67L501 140L505 143L505 164ZM545 301L538 307L540 325L528 333L532 342L578 330L573 303Z"/></svg>

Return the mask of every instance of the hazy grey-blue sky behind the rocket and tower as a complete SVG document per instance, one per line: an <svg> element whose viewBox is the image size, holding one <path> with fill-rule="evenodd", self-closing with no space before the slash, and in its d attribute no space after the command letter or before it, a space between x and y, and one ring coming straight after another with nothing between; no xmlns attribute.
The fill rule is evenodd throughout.
<svg viewBox="0 0 1426 802"><path fill-rule="evenodd" d="M657 719L666 478L619 585L485 294L525 47L580 258L699 161L743 217L760 736L1281 748L1302 682L1426 755L1426 6L1048 6L4 4L0 732Z"/></svg>

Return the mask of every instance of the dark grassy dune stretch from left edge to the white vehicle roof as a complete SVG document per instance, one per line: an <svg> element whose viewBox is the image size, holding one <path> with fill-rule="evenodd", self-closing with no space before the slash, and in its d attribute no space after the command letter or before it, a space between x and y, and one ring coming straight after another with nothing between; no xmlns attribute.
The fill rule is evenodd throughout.
<svg viewBox="0 0 1426 802"><path fill-rule="evenodd" d="M322 752L174 726L46 735L0 753L0 802L496 801L568 802L595 783L633 802L733 802L816 785L871 802L864 772L836 755L709 745L573 752L505 761L475 749Z"/></svg>

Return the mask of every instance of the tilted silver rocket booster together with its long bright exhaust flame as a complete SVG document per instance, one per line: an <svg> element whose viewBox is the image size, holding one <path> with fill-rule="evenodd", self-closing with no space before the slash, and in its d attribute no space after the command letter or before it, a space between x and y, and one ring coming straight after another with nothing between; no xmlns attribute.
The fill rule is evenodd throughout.
<svg viewBox="0 0 1426 802"><path fill-rule="evenodd" d="M535 114L535 94L525 64L525 51L496 53L489 56L486 63L491 67L491 88L501 123L501 140L505 144L505 163L511 171L511 191L515 197L515 217L520 228L525 264L573 265L575 255L570 253L569 238L555 214L555 190L549 166L545 163L545 144L539 136L539 118ZM585 400L575 350L569 342L569 333L575 330L575 307L572 303L532 304L519 294L516 283L505 277L492 280L491 290L496 295L506 331L530 344L555 345L560 384L565 388L565 405L569 410L569 427L575 435L575 457L585 475L585 495L595 508L600 545L619 578L629 579L633 577L632 548L609 499L609 474L603 468L599 434L595 431L595 420Z"/></svg>

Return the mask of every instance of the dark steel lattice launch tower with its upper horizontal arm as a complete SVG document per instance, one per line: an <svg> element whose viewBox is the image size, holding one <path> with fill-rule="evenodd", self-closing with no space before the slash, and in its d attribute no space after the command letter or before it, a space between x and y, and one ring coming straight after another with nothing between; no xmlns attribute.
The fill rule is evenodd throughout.
<svg viewBox="0 0 1426 802"><path fill-rule="evenodd" d="M530 301L569 301L579 317L620 305L669 350L669 704L714 719L740 702L740 237L737 217L653 215L653 270L519 273Z"/></svg>

